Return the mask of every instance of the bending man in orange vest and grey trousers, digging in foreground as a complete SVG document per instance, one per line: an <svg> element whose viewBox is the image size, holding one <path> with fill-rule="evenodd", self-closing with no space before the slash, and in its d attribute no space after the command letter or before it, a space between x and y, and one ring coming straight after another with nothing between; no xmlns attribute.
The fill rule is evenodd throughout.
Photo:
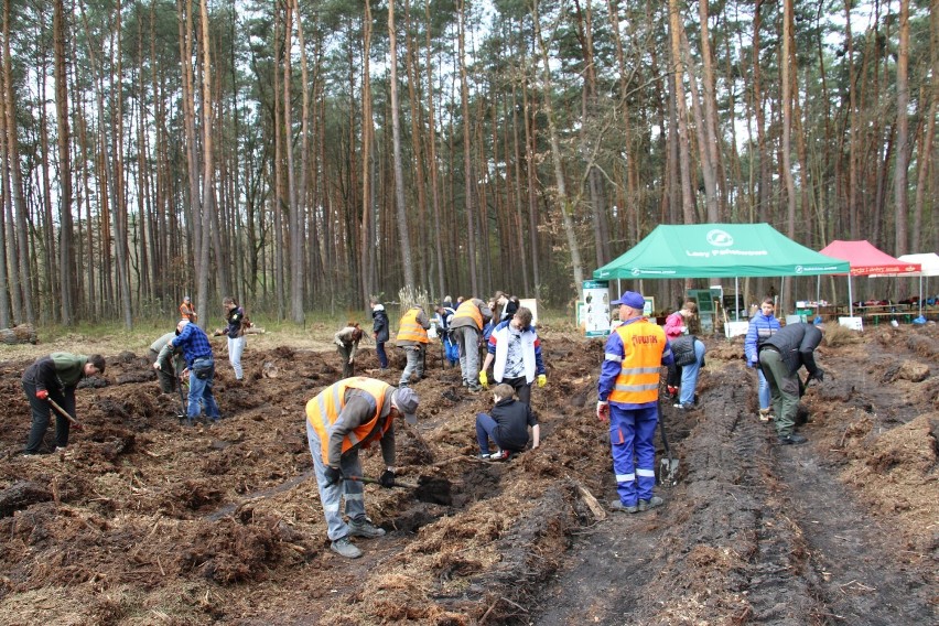
<svg viewBox="0 0 939 626"><path fill-rule="evenodd" d="M330 549L348 559L361 557L352 537L382 537L385 529L365 515L358 451L378 441L386 470L379 482L395 486L395 418L417 423L420 400L408 387L395 388L364 376L326 387L306 402L306 440L313 456L320 501L326 518ZM343 520L339 499L345 499Z"/></svg>

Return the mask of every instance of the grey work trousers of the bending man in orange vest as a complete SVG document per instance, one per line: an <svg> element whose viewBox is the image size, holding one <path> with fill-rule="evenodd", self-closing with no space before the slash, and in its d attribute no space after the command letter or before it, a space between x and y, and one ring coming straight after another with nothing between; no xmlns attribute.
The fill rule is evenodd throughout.
<svg viewBox="0 0 939 626"><path fill-rule="evenodd" d="M327 485L323 471L323 447L320 445L320 436L313 427L306 422L306 442L310 444L310 454L313 456L313 470L316 473L316 488L320 490L320 503L323 505L323 516L326 518L326 536L330 540L342 539L349 533L348 525L343 520L339 511L339 500L345 496L346 515L349 519L365 519L365 500L363 499L363 484L359 481L339 481L335 485ZM352 451L339 457L339 470L343 476L361 476L361 463L358 460L358 451Z"/></svg>

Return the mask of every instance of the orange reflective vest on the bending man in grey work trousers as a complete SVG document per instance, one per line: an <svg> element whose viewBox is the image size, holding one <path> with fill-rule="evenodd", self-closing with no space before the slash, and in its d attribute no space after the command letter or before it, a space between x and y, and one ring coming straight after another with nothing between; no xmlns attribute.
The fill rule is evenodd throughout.
<svg viewBox="0 0 939 626"><path fill-rule="evenodd" d="M316 431L320 438L323 463L328 464L330 462L330 429L346 406L346 391L349 389L361 389L365 391L374 400L375 413L370 420L353 429L343 439L343 453L356 445L368 447L373 441L381 439L381 435L391 428L392 417L390 413L385 420L381 430L376 428L389 387L391 386L384 380L376 380L375 378L366 378L364 376L345 378L330 385L320 391L315 398L306 402L306 421L310 422L310 425L313 427L313 430Z"/></svg>

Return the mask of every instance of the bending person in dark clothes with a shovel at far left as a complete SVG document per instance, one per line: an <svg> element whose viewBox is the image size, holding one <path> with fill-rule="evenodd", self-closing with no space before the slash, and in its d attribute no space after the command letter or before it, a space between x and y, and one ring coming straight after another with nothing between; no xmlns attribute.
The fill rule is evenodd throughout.
<svg viewBox="0 0 939 626"><path fill-rule="evenodd" d="M75 412L75 388L89 376L105 373L105 357L99 354L52 353L36 359L23 371L23 391L30 402L33 420L30 436L23 454L39 454L43 439L48 430L50 411L53 402L58 404L55 411L55 450L62 451L68 445L68 431L72 420L63 415L60 409L72 419ZM76 423L76 430L78 424Z"/></svg>

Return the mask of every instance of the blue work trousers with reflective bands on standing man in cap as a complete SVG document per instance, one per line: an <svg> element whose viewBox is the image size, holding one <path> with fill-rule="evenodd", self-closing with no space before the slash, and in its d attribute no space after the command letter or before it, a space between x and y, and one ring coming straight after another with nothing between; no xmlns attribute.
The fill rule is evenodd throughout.
<svg viewBox="0 0 939 626"><path fill-rule="evenodd" d="M656 486L656 446L652 439L659 422L657 407L620 409L609 404L609 443L616 492L623 506L649 500Z"/></svg>

